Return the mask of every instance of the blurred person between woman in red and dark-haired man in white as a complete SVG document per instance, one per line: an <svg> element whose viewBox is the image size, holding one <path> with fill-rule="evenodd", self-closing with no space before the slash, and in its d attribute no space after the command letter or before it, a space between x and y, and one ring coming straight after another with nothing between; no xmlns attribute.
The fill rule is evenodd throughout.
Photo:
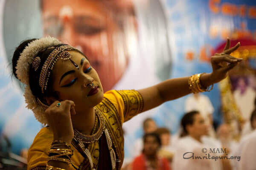
<svg viewBox="0 0 256 170"><path fill-rule="evenodd" d="M157 128L156 133L161 139L161 147L158 155L167 158L171 162L175 148L172 146L172 135L170 130L165 127L160 127Z"/></svg>

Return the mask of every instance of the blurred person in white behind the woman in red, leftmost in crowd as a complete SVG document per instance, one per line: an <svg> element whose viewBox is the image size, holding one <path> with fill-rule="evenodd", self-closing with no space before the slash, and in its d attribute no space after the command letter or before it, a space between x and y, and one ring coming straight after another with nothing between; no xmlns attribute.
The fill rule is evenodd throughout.
<svg viewBox="0 0 256 170"><path fill-rule="evenodd" d="M153 118L146 118L143 121L143 133L144 134L146 134L146 133L153 133L156 130L157 130L157 124L156 124L156 122L154 121ZM133 150L133 158L135 156L140 155L142 150L143 150L143 138L141 137L141 138L138 138L135 141L134 150Z"/></svg>

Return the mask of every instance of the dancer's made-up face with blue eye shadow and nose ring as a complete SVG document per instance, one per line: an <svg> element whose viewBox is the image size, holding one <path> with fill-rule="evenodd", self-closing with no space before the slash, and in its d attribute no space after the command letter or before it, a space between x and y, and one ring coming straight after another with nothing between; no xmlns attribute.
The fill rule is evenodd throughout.
<svg viewBox="0 0 256 170"><path fill-rule="evenodd" d="M59 59L52 70L53 90L58 94L58 100L71 100L77 110L94 107L103 99L103 88L99 76L89 61L79 52L70 52L71 60L79 66L79 69L70 61ZM90 84L98 86L98 92L90 95ZM89 96L88 96L89 94Z"/></svg>

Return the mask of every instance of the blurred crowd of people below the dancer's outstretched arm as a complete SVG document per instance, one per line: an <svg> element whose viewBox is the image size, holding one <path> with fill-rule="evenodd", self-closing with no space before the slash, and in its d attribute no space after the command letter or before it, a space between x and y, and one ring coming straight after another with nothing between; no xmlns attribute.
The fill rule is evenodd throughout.
<svg viewBox="0 0 256 170"><path fill-rule="evenodd" d="M256 101L256 100L255 100ZM209 98L189 96L180 129L172 134L153 118L143 121L144 135L134 142L133 158L122 170L253 170L256 146L256 110L236 127L225 121L213 126ZM171 112L170 112L171 114Z"/></svg>

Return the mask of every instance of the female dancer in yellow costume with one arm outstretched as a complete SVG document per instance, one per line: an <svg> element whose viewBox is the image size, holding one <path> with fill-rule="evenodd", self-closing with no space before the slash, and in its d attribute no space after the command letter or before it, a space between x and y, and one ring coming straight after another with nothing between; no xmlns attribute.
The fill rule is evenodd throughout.
<svg viewBox="0 0 256 170"><path fill-rule="evenodd" d="M166 101L209 91L241 61L230 56L239 46L230 48L227 40L211 58L212 73L103 93L96 70L78 49L53 37L23 41L13 55L13 73L25 84L27 107L48 125L29 149L28 170L120 170L122 124Z"/></svg>

